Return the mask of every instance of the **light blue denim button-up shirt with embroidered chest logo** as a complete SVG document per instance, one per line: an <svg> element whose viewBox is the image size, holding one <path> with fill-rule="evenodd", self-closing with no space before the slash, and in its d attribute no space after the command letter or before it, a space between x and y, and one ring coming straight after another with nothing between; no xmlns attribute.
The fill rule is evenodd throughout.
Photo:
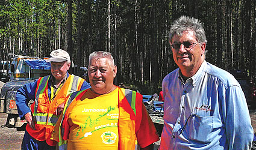
<svg viewBox="0 0 256 150"><path fill-rule="evenodd" d="M251 118L234 76L206 61L186 81L180 75L177 68L163 80L160 149L250 149Z"/></svg>

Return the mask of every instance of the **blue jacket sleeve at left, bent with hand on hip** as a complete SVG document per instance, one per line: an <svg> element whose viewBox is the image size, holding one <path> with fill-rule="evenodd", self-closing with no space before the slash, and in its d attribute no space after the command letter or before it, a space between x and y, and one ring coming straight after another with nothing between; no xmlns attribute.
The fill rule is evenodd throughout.
<svg viewBox="0 0 256 150"><path fill-rule="evenodd" d="M27 83L17 90L16 105L20 119L24 119L24 115L31 112L28 107L28 101L35 99L37 82Z"/></svg>

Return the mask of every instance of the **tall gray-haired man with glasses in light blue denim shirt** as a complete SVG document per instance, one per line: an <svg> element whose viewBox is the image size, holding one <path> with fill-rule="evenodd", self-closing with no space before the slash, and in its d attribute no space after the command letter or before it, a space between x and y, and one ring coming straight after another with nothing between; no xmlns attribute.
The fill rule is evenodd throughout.
<svg viewBox="0 0 256 150"><path fill-rule="evenodd" d="M162 84L160 149L250 149L254 135L245 95L234 76L205 61L202 23L181 16L169 42L179 68Z"/></svg>

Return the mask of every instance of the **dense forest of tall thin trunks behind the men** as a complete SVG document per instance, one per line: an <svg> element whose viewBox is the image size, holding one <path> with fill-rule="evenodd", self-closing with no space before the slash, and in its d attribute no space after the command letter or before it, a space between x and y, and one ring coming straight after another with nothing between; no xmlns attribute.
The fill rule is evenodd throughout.
<svg viewBox="0 0 256 150"><path fill-rule="evenodd" d="M207 57L227 71L245 71L255 80L256 0L1 0L0 59L8 53L45 57L69 52L87 67L91 52L111 52L115 84L142 94L161 90L177 68L168 43L173 20L193 16L204 23ZM81 70L77 75L81 76Z"/></svg>

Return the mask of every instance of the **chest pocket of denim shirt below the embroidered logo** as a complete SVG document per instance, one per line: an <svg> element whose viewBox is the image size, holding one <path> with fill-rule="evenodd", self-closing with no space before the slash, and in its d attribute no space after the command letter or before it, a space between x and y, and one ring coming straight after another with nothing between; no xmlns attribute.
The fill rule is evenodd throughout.
<svg viewBox="0 0 256 150"><path fill-rule="evenodd" d="M213 116L194 115L187 121L184 130L190 140L201 143L209 143L212 140Z"/></svg>

